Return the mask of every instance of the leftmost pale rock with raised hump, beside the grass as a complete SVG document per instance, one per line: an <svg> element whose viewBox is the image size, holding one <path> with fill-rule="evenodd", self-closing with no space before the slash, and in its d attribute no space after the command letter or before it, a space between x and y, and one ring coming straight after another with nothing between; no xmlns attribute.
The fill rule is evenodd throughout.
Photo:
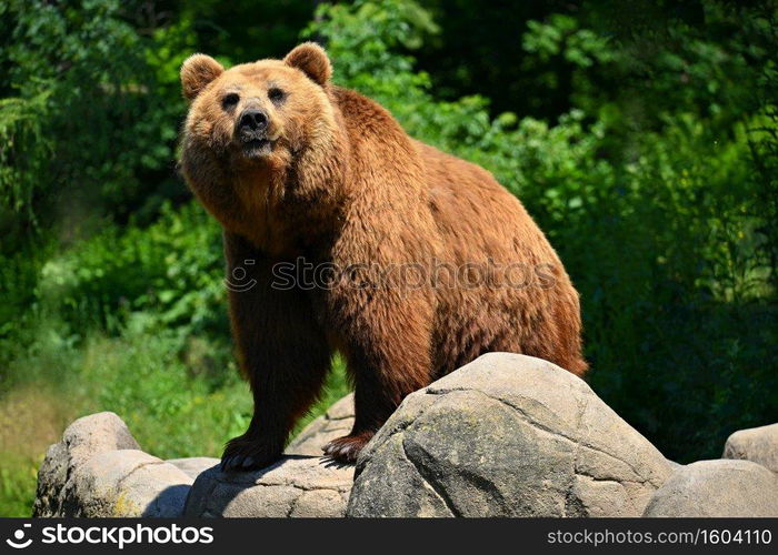
<svg viewBox="0 0 778 555"><path fill-rule="evenodd" d="M180 516L192 480L139 450L113 413L79 418L49 447L33 516Z"/></svg>

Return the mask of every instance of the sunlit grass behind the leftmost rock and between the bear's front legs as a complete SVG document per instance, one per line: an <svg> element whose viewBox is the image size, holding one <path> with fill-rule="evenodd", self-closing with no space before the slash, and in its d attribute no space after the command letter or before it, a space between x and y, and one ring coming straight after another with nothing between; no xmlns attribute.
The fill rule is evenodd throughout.
<svg viewBox="0 0 778 555"><path fill-rule="evenodd" d="M117 413L142 448L161 458L219 456L251 416L248 384L228 345L166 334L90 333L72 344L53 326L3 369L0 394L0 516L30 516L46 450L73 420ZM348 392L343 365L295 431Z"/></svg>

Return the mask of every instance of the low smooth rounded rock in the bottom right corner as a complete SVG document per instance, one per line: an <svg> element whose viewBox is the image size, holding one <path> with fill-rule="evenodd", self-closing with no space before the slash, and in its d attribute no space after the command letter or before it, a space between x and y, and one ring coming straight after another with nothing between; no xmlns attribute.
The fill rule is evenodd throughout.
<svg viewBox="0 0 778 555"><path fill-rule="evenodd" d="M778 516L778 476L750 461L691 463L656 491L644 516Z"/></svg>

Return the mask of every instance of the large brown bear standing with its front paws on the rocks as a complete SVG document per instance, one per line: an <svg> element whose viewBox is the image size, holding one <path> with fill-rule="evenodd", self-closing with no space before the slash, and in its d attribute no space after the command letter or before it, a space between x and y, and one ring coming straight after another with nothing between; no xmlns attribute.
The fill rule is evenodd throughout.
<svg viewBox="0 0 778 555"><path fill-rule="evenodd" d="M355 386L353 462L409 393L489 351L581 375L578 294L521 203L492 175L406 134L330 81L315 43L283 60L181 68L181 169L223 226L230 320L255 413L222 468L268 465L339 351ZM326 265L316 286L282 280ZM321 273L321 272L320 272Z"/></svg>

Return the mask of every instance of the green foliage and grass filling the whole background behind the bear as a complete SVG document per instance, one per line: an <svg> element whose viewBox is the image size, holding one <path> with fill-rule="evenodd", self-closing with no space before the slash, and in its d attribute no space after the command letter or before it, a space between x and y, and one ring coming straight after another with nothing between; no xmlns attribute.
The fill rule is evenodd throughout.
<svg viewBox="0 0 778 555"><path fill-rule="evenodd" d="M161 456L242 431L219 228L171 171L178 68L303 28L339 84L521 199L581 292L592 387L667 456L775 421L770 2L166 6L0 4L0 513L29 512L78 415L118 412ZM335 366L309 417L347 391Z"/></svg>

